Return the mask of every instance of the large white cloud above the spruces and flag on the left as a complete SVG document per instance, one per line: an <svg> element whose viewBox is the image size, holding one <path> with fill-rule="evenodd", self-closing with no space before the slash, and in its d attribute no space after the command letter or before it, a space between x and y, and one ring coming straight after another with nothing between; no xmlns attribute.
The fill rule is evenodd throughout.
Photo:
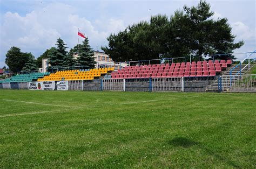
<svg viewBox="0 0 256 169"><path fill-rule="evenodd" d="M95 22L95 25L102 28L99 30L86 16L78 16L72 6L63 3L48 4L24 17L18 13L6 12L1 20L0 61L4 61L5 53L11 46L20 47L23 52L32 52L36 57L47 48L55 46L59 37L69 47L73 47L77 44L77 27L89 37L93 48L104 46L107 43L106 37L111 32L124 29L122 20L111 18Z"/></svg>

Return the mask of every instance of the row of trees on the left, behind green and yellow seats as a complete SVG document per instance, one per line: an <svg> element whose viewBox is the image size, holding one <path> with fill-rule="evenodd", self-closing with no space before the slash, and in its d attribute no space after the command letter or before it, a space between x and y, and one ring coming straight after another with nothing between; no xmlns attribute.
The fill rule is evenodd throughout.
<svg viewBox="0 0 256 169"><path fill-rule="evenodd" d="M49 70L75 66L85 69L95 67L94 53L87 38L79 45L78 49L75 46L68 52L67 48L64 40L59 38L57 39L56 47L51 47L35 59L31 53L21 52L20 48L14 46L6 53L5 64L9 66L11 72L37 72L38 68L42 67L42 60L45 58L49 58ZM75 59L73 55L77 54L77 52L78 57Z"/></svg>

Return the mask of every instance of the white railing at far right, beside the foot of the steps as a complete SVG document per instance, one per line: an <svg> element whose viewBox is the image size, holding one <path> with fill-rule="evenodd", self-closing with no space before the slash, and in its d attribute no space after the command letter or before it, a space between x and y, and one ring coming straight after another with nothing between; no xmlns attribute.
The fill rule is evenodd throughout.
<svg viewBox="0 0 256 169"><path fill-rule="evenodd" d="M222 90L232 92L256 92L256 74L221 76Z"/></svg>

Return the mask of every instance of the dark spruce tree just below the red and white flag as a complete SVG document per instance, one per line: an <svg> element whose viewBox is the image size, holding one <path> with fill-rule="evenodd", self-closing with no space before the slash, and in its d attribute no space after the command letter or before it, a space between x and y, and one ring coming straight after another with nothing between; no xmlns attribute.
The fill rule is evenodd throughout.
<svg viewBox="0 0 256 169"><path fill-rule="evenodd" d="M79 45L78 52L78 66L82 66L85 69L95 68L94 52L87 38L84 39L82 45Z"/></svg>

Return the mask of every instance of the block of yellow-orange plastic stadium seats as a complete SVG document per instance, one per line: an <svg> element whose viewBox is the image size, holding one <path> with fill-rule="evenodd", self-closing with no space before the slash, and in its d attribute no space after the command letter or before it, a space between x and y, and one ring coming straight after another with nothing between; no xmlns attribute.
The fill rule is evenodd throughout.
<svg viewBox="0 0 256 169"><path fill-rule="evenodd" d="M56 73L51 73L49 76L45 76L44 78L39 78L38 81L93 80L96 77L102 76L102 74L106 74L113 70L114 67L58 71Z"/></svg>

